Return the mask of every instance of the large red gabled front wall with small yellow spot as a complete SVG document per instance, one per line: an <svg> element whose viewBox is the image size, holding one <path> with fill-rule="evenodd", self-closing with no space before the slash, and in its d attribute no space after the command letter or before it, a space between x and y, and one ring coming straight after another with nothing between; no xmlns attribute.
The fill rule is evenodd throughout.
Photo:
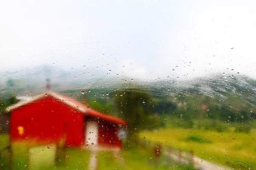
<svg viewBox="0 0 256 170"><path fill-rule="evenodd" d="M21 136L17 127L24 128ZM84 116L64 104L64 102L47 96L12 111L10 119L10 136L12 140L49 141L64 140L66 144L79 146L84 142ZM27 138L27 139L26 139Z"/></svg>

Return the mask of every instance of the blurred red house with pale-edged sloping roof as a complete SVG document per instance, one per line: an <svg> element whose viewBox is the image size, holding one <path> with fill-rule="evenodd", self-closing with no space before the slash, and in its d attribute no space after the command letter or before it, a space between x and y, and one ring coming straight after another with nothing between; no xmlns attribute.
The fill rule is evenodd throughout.
<svg viewBox="0 0 256 170"><path fill-rule="evenodd" d="M13 141L66 146L119 148L122 119L93 110L75 99L49 92L9 106ZM32 143L33 143L32 142Z"/></svg>

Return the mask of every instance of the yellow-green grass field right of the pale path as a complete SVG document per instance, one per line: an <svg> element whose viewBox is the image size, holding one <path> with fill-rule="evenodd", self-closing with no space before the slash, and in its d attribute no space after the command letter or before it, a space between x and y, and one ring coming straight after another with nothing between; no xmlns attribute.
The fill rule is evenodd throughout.
<svg viewBox="0 0 256 170"><path fill-rule="evenodd" d="M193 150L196 156L234 169L256 169L256 130L251 133L168 128L140 133L142 140ZM145 136L145 139L144 139Z"/></svg>

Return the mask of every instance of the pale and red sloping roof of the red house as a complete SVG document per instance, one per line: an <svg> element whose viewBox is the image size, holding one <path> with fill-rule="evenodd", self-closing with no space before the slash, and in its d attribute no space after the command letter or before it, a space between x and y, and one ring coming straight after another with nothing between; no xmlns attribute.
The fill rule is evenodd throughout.
<svg viewBox="0 0 256 170"><path fill-rule="evenodd" d="M34 96L34 97L31 97L31 98L28 98L28 99L23 99L20 102L17 102L16 104L10 105L9 107L7 107L6 111L10 112L12 110L15 110L15 109L20 108L24 105L28 105L30 103L36 102L36 101L38 101L40 99L43 99L44 97L48 97L48 96L52 96L55 99L57 99L61 102L64 102L66 105L69 105L70 107L78 109L79 111L81 111L84 114L84 116L91 116L91 117L94 117L94 118L97 118L97 119L102 119L102 120L105 120L105 121L108 121L108 122L127 125L127 123L124 120L120 119L120 118L117 118L117 117L114 117L114 116L108 116L104 113L100 113L99 111L93 110L92 108L88 109L87 105L82 104L81 102L77 101L76 99L72 99L72 98L67 97L67 96L62 96L60 94L56 94L56 93L53 93L53 92L47 92L47 94L40 94L38 96Z"/></svg>

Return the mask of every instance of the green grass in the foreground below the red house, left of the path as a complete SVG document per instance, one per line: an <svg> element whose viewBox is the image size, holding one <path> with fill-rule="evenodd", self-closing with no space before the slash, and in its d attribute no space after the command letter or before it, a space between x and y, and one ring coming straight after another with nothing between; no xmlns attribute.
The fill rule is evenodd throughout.
<svg viewBox="0 0 256 170"><path fill-rule="evenodd" d="M26 145L27 144L27 145ZM24 167L29 170L88 170L91 158L90 150L82 150L81 148L68 148L58 150L58 156L54 156L50 151L54 147L40 146L36 151L38 159L31 157L31 146L29 142L18 142L12 144L12 170L23 170ZM9 170L8 150L9 136L7 134L0 135L0 170ZM44 148L45 147L45 148ZM39 149L38 149L39 148ZM38 154L41 152L41 154ZM45 153L44 153L45 152ZM140 144L131 144L119 153L109 151L99 151L96 155L98 170L193 170L186 164L180 164L170 160L169 156L161 156L158 165L155 164L154 151L151 148L146 149ZM93 155L93 157L95 157ZM55 164L51 165L50 159L55 159ZM47 161L48 160L48 161ZM31 162L33 161L33 162ZM48 162L48 163L47 163Z"/></svg>

